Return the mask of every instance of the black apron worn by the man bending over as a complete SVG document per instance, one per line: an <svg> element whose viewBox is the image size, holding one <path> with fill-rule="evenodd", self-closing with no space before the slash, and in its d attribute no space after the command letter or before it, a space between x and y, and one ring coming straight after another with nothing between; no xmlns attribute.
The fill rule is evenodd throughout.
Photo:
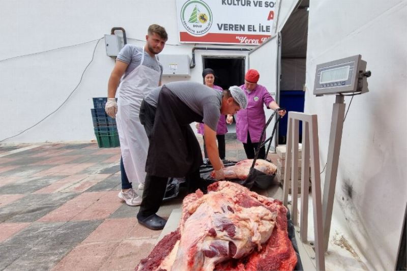
<svg viewBox="0 0 407 271"><path fill-rule="evenodd" d="M190 124L203 117L192 111L165 85L158 98L146 172L160 177L184 177L203 164L202 152Z"/></svg>

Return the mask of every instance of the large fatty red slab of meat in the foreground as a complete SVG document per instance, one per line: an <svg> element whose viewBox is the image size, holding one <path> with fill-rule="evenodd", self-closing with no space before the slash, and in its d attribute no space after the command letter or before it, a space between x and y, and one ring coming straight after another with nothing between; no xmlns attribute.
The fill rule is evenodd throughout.
<svg viewBox="0 0 407 271"><path fill-rule="evenodd" d="M293 270L287 209L247 188L221 181L183 201L179 227L136 270Z"/></svg>

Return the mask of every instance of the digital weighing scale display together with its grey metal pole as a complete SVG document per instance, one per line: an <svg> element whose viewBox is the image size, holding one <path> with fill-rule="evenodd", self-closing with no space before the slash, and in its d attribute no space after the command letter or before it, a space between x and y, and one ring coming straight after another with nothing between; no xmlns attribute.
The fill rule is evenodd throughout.
<svg viewBox="0 0 407 271"><path fill-rule="evenodd" d="M331 230L332 208L335 197L336 176L342 129L345 114L344 95L357 95L368 92L366 61L360 54L318 64L315 69L314 95L336 95L333 105L331 131L327 156L323 194L324 251L328 251L329 232Z"/></svg>

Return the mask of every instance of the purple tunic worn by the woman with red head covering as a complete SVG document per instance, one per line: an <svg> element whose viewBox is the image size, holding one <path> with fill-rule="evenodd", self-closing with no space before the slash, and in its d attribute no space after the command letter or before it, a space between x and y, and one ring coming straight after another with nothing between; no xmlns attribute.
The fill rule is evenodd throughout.
<svg viewBox="0 0 407 271"><path fill-rule="evenodd" d="M247 132L249 132L251 142L256 143L260 141L261 132L266 126L263 104L268 107L274 99L263 85L257 84L250 93L247 92L245 85L240 87L246 94L247 108L237 113L236 136L239 141L247 143ZM263 140L265 139L266 135Z"/></svg>

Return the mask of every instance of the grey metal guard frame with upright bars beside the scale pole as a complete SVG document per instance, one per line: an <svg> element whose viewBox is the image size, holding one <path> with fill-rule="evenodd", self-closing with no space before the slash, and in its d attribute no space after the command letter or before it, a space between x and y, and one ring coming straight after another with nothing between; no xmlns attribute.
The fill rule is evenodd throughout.
<svg viewBox="0 0 407 271"><path fill-rule="evenodd" d="M302 140L302 170L301 170L301 227L298 224L298 143L299 126L303 122ZM283 203L288 203L288 181L291 176L292 208L291 218L296 231L300 232L300 240L307 259L301 258L302 262L311 259L316 270L325 270L324 239L323 239L323 217L321 203L321 177L319 175L319 144L318 144L318 120L317 115L302 112L288 112L287 145L285 154ZM307 238L308 230L308 186L309 186L309 162L311 161L311 186L312 205L314 219L314 242ZM291 174L288 174L288 173ZM288 207L288 206L287 206ZM296 233L297 235L297 233ZM304 255L304 254L303 254ZM305 255L304 255L305 256ZM305 264L304 264L305 265Z"/></svg>

